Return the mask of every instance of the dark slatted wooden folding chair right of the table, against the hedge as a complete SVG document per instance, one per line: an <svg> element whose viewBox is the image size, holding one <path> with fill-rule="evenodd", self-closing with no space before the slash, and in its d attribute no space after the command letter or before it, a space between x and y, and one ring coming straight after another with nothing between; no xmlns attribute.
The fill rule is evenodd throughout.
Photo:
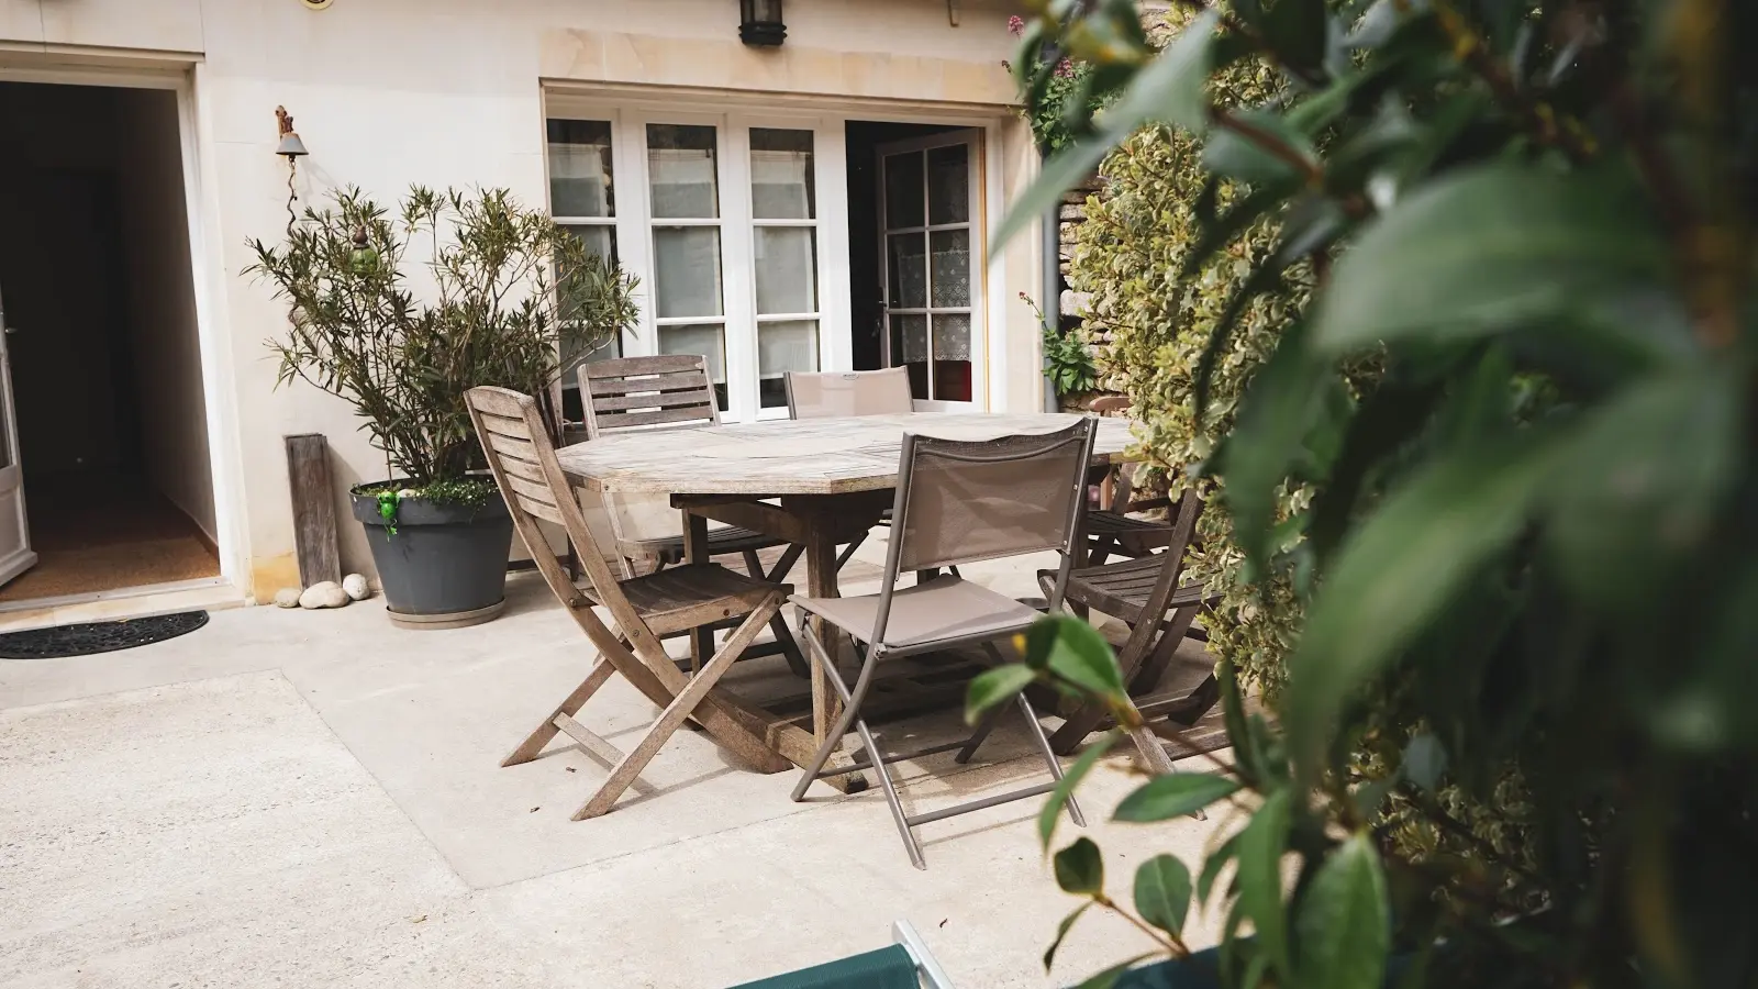
<svg viewBox="0 0 1758 989"><path fill-rule="evenodd" d="M1067 602L1071 605L1101 611L1129 625L1129 639L1118 649L1116 662L1130 693L1151 690L1160 681L1178 651L1178 644L1188 637L1190 623L1202 609L1213 607L1220 600L1202 584L1181 582L1185 551L1190 547L1201 514L1202 498L1195 489L1188 489L1178 502L1178 516L1164 553L1106 567L1085 567L1067 575ZM1037 572L1037 581L1046 593L1050 593L1057 575L1057 570ZM1220 690L1211 674L1187 695L1139 697L1136 709L1141 711L1143 718L1173 718L1194 725L1215 706L1218 697ZM1067 755L1104 720L1106 714L1099 707L1081 706L1071 711L1062 727L1050 736L1050 746L1057 753ZM1157 736L1148 729L1137 729L1132 737L1150 769L1171 773L1173 764Z"/></svg>

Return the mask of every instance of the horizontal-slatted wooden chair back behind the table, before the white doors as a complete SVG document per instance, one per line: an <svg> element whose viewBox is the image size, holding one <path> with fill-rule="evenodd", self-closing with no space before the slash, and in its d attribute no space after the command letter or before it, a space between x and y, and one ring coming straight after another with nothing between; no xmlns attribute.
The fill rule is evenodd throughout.
<svg viewBox="0 0 1758 989"><path fill-rule="evenodd" d="M578 375L585 431L592 438L617 429L721 421L721 405L701 355L594 361L580 364Z"/></svg>

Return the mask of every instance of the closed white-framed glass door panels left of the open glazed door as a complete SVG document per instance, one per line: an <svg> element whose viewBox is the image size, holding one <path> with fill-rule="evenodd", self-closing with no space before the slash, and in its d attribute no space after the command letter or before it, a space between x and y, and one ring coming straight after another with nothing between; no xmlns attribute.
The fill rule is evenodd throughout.
<svg viewBox="0 0 1758 989"><path fill-rule="evenodd" d="M701 354L730 421L847 364L840 120L552 99L547 127L556 220L640 280L642 324L594 359Z"/></svg>

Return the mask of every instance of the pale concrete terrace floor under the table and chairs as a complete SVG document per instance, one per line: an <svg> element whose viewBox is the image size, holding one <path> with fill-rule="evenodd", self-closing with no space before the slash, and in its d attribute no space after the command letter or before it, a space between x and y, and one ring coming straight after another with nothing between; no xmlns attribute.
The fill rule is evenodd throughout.
<svg viewBox="0 0 1758 989"><path fill-rule="evenodd" d="M868 540L846 593L883 553ZM967 577L1030 595L1032 563ZM499 760L591 651L540 579L508 593L499 621L454 632L392 628L378 600L253 607L127 653L0 660L0 985L716 989L881 947L897 919L960 989L1072 985L1148 950L1090 913L1044 975L1072 901L1037 850L1037 799L923 827L916 871L877 787L795 804L795 773L742 771L682 730L615 811L570 822L603 764L561 743ZM1181 660L1201 670L1194 644ZM723 683L800 688L779 658ZM580 718L628 746L654 713L614 679ZM969 767L905 764L905 806L1037 781L1006 725ZM881 734L960 730L946 711ZM1136 864L1195 868L1227 825L1109 824L1129 767L1108 757L1079 790L1120 899ZM1194 917L1190 940L1217 924Z"/></svg>

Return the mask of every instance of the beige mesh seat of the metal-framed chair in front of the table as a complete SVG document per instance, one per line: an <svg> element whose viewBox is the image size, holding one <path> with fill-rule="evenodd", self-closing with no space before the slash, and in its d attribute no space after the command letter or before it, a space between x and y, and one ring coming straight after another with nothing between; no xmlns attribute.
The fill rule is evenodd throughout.
<svg viewBox="0 0 1758 989"><path fill-rule="evenodd" d="M881 597L805 598L795 595L788 600L830 621L854 639L872 642ZM999 637L1023 632L1037 618L1037 609L1023 605L1007 595L999 595L981 584L951 575L935 577L925 584L900 588L891 597L886 644L911 648L923 642L946 642L977 635Z"/></svg>

